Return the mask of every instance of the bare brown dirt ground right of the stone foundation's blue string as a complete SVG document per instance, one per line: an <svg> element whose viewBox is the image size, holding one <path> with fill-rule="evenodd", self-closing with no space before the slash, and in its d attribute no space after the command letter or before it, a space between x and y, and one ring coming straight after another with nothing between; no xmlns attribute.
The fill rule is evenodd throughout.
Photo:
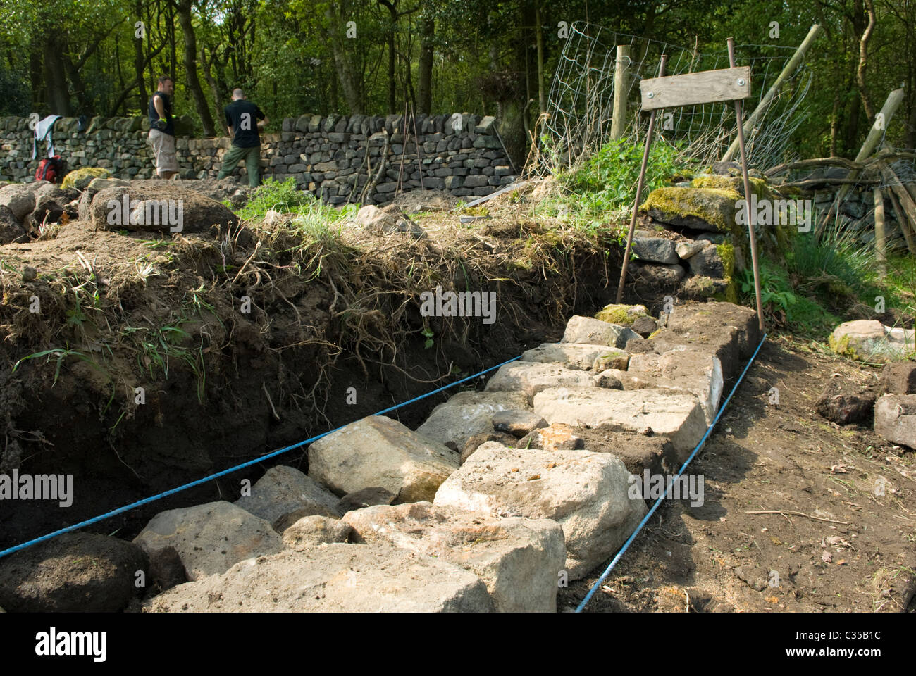
<svg viewBox="0 0 916 676"><path fill-rule="evenodd" d="M688 468L703 506L663 504L587 610L916 612L916 453L814 411L829 378L877 374L769 339ZM764 510L787 513L747 513ZM558 607L603 570L561 589Z"/></svg>

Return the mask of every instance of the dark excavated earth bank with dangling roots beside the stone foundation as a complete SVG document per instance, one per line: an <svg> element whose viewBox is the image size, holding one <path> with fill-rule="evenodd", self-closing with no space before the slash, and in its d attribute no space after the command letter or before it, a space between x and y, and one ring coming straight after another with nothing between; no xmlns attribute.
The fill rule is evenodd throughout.
<svg viewBox="0 0 916 676"><path fill-rule="evenodd" d="M215 238L150 245L148 234L97 233L75 222L52 239L0 247L0 473L73 476L70 507L6 502L0 549L559 340L569 316L613 301L620 266L613 240L596 245L518 218L447 243L434 228L429 235L416 242L359 234L359 242L324 242L303 254L249 226L234 233L227 253ZM258 246L261 255L251 258ZM169 256L158 256L164 249ZM81 270L77 251L91 269ZM150 251L159 275L137 281L137 264L125 261ZM254 263L245 269L245 260ZM38 278L27 281L26 267ZM252 270L264 274L248 278ZM420 293L437 285L496 292L495 321L423 317ZM626 300L660 307L663 293L652 300L645 289L633 293ZM239 311L246 295L250 314ZM35 296L39 316L25 310ZM470 385L387 415L416 429ZM476 388L483 385L481 378ZM131 538L162 510L237 499L242 480L253 484L278 463L307 471L304 448L295 449L86 530Z"/></svg>

